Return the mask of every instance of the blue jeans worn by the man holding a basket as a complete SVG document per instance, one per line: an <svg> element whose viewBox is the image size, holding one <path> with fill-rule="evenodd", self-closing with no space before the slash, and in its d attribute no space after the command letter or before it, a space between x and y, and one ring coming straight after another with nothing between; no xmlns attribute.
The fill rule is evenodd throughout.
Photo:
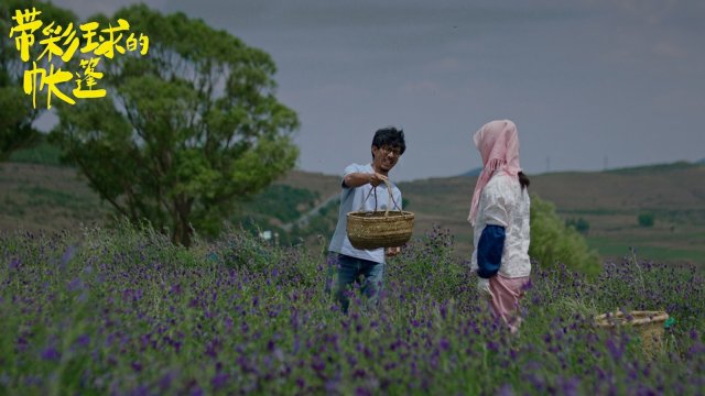
<svg viewBox="0 0 705 396"><path fill-rule="evenodd" d="M332 258L330 264L338 268L335 297L340 302L343 312L348 312L348 290L352 284L360 285L360 293L367 298L368 305L377 306L383 286L384 263L335 253Z"/></svg>

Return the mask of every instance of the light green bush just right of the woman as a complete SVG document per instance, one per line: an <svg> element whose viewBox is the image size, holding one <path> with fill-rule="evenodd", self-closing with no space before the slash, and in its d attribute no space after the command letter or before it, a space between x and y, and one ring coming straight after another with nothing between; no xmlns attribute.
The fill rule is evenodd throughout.
<svg viewBox="0 0 705 396"><path fill-rule="evenodd" d="M585 238L565 224L553 204L531 197L531 244L529 255L543 266L563 263L585 274L600 271L599 256L590 250Z"/></svg>

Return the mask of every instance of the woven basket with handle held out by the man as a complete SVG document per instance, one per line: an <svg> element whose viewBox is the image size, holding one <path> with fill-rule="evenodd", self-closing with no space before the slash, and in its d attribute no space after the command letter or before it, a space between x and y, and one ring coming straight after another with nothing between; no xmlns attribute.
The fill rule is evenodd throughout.
<svg viewBox="0 0 705 396"><path fill-rule="evenodd" d="M373 211L352 211L347 215L347 232L350 244L355 249L379 249L379 248L397 248L409 242L411 233L414 227L414 213L403 211L394 201L392 197L392 188L389 182L387 184L387 191L389 193L389 201L392 201L397 209L377 210L377 187L370 190L375 190L375 210ZM365 201L369 198L367 195ZM362 205L365 205L362 201ZM388 201L388 204L389 204Z"/></svg>

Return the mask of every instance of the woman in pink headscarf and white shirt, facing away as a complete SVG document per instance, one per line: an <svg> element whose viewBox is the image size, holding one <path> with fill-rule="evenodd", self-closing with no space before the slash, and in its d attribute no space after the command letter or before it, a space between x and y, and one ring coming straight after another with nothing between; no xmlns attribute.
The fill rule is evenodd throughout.
<svg viewBox="0 0 705 396"><path fill-rule="evenodd" d="M473 138L482 156L470 216L474 227L471 268L480 294L511 332L521 323L519 301L529 284L529 178L519 165L517 125L491 121Z"/></svg>

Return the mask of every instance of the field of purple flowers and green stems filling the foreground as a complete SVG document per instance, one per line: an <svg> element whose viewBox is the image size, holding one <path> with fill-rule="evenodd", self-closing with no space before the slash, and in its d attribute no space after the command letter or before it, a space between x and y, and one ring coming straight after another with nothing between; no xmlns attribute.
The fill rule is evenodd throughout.
<svg viewBox="0 0 705 396"><path fill-rule="evenodd" d="M324 252L240 231L188 250L127 227L1 234L0 394L703 394L698 268L536 266L513 336L453 245L437 229L413 241L379 309L344 316ZM593 326L620 308L675 319L663 352Z"/></svg>

